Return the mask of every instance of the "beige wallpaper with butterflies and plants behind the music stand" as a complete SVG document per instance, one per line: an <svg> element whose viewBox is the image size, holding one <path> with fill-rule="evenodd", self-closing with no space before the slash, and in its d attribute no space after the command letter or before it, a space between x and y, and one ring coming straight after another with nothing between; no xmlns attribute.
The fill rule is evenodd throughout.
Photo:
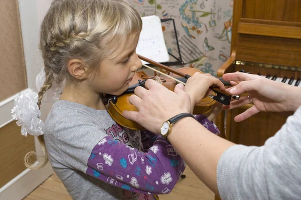
<svg viewBox="0 0 301 200"><path fill-rule="evenodd" d="M175 18L184 66L216 75L217 69L229 58L233 0L128 1L141 16ZM179 57L173 22L162 22L162 28L169 52Z"/></svg>

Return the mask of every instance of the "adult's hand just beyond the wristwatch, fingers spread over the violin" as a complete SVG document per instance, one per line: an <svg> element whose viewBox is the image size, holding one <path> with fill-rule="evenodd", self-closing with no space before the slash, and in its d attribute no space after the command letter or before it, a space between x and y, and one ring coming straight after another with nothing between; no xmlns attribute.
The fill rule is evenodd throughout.
<svg viewBox="0 0 301 200"><path fill-rule="evenodd" d="M177 84L173 92L155 80L148 79L145 87L136 87L135 94L129 97L129 102L139 111L124 110L124 117L158 134L164 121L177 114L190 112L190 96L184 91L183 84Z"/></svg>

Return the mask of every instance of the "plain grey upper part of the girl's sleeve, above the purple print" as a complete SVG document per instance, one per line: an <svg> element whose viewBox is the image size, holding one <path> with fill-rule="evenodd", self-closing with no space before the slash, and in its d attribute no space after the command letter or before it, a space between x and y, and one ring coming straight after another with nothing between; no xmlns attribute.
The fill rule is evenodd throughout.
<svg viewBox="0 0 301 200"><path fill-rule="evenodd" d="M61 158L60 163L85 173L92 149L107 136L103 127L98 125L80 116L70 116L48 124L52 126L52 134L45 135L48 146L52 145L52 148L47 148L49 153L54 154L52 149L56 149L58 154L55 157Z"/></svg>

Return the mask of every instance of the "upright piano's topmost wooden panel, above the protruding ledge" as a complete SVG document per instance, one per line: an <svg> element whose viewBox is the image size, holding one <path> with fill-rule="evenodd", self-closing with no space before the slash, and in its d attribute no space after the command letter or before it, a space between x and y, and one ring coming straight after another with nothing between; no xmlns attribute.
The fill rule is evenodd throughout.
<svg viewBox="0 0 301 200"><path fill-rule="evenodd" d="M301 22L301 0L243 0L242 17Z"/></svg>

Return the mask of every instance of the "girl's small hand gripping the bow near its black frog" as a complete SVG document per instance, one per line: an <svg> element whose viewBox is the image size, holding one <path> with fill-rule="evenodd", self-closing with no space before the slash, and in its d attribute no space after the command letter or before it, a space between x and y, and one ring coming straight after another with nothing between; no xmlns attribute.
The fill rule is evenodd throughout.
<svg viewBox="0 0 301 200"><path fill-rule="evenodd" d="M209 88L212 85L219 87L221 90L226 89L224 84L210 73L196 72L188 78L185 91L189 93L191 98L191 113L194 109L194 105L212 92L212 89Z"/></svg>

